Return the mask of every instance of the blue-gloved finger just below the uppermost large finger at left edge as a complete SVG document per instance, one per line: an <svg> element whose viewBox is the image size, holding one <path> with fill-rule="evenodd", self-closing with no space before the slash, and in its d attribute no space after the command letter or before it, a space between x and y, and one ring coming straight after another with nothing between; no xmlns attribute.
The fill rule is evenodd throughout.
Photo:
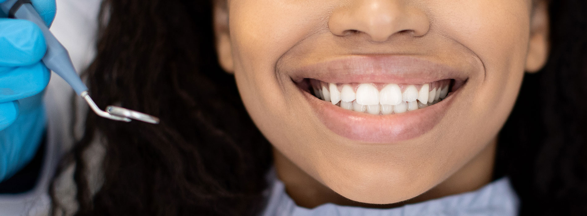
<svg viewBox="0 0 587 216"><path fill-rule="evenodd" d="M0 67L0 103L40 93L51 74L42 62L22 67Z"/></svg>

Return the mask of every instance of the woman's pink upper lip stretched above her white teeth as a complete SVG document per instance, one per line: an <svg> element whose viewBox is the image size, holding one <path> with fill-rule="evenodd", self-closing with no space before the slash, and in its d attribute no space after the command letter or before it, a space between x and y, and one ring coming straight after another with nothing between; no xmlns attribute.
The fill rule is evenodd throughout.
<svg viewBox="0 0 587 216"><path fill-rule="evenodd" d="M326 83L425 84L468 77L464 69L410 55L351 55L284 70L294 82L310 78Z"/></svg>

